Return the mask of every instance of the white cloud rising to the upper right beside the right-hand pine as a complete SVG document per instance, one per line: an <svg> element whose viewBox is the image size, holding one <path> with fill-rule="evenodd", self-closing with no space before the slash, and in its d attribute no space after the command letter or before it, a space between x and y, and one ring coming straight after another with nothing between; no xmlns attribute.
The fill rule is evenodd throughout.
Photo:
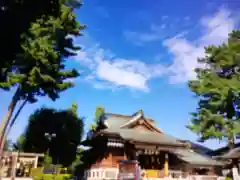
<svg viewBox="0 0 240 180"><path fill-rule="evenodd" d="M175 36L163 42L174 55L173 64L169 68L171 83L195 78L194 69L200 66L197 58L204 57L204 47L225 42L228 34L237 26L237 20L231 16L231 12L223 8L213 16L203 17L200 23L203 35L195 42L190 42L183 36Z"/></svg>

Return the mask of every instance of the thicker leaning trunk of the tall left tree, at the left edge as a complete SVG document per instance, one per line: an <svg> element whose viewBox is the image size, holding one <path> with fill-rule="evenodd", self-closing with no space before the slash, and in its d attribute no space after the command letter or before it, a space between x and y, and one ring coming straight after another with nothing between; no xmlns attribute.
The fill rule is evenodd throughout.
<svg viewBox="0 0 240 180"><path fill-rule="evenodd" d="M13 111L19 100L19 91L20 91L20 89L18 88L11 100L11 103L8 106L7 114L4 117L2 124L0 126L0 158L2 157L4 142L5 142L5 138L6 138L6 130L9 125L10 119L12 117Z"/></svg>

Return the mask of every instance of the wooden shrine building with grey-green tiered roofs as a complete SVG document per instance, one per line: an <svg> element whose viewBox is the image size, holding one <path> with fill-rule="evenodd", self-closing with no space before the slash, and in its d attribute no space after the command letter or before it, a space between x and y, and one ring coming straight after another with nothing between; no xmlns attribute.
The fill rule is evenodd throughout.
<svg viewBox="0 0 240 180"><path fill-rule="evenodd" d="M223 165L199 153L201 148L196 151L191 142L163 132L142 110L103 114L82 145L88 147L83 155L86 179L116 179L122 160L137 161L143 179L216 176Z"/></svg>

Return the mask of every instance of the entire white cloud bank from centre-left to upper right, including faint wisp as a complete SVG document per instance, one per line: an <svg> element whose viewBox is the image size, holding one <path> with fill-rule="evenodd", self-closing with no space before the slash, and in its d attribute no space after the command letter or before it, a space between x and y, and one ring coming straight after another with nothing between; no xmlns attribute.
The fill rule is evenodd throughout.
<svg viewBox="0 0 240 180"><path fill-rule="evenodd" d="M182 83L195 78L194 69L199 66L197 58L204 56L204 46L219 44L227 40L236 26L236 21L226 9L213 16L201 18L202 36L190 42L185 37L188 31L178 33L165 39L162 44L173 54L173 63L165 67L159 62L147 64L140 59L125 59L115 56L111 51L100 48L100 45L83 48L76 60L87 69L85 81L91 82L95 88L131 88L148 92L149 81L153 78L167 77L171 83ZM128 36L140 38L140 42L161 40L163 26L152 25L151 32ZM158 54L158 57L160 55ZM154 62L154 58L153 61Z"/></svg>

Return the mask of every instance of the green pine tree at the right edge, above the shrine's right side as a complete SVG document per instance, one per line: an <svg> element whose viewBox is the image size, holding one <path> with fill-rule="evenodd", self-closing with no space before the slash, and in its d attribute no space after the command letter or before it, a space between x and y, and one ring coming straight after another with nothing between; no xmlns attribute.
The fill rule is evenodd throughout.
<svg viewBox="0 0 240 180"><path fill-rule="evenodd" d="M199 102L188 128L197 133L201 141L227 139L230 149L240 135L239 34L234 31L227 43L206 48L206 56L198 60L203 68L197 68L197 80L189 82Z"/></svg>

